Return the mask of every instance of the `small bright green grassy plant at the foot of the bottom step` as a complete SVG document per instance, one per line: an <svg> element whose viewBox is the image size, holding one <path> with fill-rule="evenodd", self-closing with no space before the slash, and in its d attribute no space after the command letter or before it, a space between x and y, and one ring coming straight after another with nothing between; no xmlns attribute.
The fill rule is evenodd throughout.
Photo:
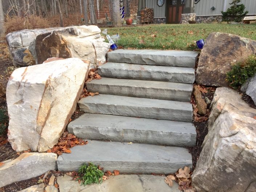
<svg viewBox="0 0 256 192"><path fill-rule="evenodd" d="M79 177L77 180L81 180L84 185L90 185L92 183L99 183L99 180L102 183L102 176L104 173L93 163L89 163L88 165L84 163L79 168L78 175Z"/></svg>

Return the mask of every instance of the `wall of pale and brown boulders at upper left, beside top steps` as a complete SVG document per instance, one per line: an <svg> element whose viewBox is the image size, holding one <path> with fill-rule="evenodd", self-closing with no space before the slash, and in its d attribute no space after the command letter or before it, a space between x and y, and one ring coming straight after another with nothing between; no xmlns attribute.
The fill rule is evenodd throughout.
<svg viewBox="0 0 256 192"><path fill-rule="evenodd" d="M100 33L95 25L82 25L21 30L7 34L6 40L16 67L42 64L50 57L77 57L96 66L106 61L110 47Z"/></svg>

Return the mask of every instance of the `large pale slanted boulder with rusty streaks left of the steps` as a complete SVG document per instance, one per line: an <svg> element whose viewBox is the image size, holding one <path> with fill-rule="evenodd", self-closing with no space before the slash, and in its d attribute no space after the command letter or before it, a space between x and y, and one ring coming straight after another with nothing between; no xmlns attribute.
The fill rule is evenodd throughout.
<svg viewBox="0 0 256 192"><path fill-rule="evenodd" d="M88 74L89 61L68 58L16 69L7 84L8 141L13 150L49 150L58 142Z"/></svg>

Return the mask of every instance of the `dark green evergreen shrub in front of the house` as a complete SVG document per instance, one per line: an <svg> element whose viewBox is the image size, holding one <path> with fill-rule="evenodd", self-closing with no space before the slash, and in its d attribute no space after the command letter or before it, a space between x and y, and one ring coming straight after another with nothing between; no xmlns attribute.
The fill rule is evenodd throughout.
<svg viewBox="0 0 256 192"><path fill-rule="evenodd" d="M238 4L241 0L233 0L230 8L227 9L226 12L222 11L222 19L223 21L235 21L240 22L243 20L244 16L248 13L248 11L244 12L245 6L244 4Z"/></svg>

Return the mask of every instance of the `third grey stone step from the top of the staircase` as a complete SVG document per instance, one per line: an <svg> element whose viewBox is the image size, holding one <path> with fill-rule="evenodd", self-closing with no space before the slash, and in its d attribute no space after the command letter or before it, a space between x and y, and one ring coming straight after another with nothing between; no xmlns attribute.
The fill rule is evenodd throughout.
<svg viewBox="0 0 256 192"><path fill-rule="evenodd" d="M193 85L139 79L102 77L87 83L87 90L99 94L190 102Z"/></svg>

